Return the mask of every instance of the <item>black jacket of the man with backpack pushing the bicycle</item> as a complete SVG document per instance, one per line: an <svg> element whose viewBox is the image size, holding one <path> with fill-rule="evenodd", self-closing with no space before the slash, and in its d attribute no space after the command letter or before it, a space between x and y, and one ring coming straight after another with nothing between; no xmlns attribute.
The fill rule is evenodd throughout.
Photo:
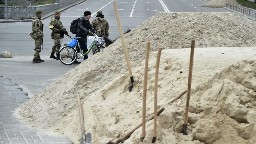
<svg viewBox="0 0 256 144"><path fill-rule="evenodd" d="M95 31L95 29L90 24L90 21L83 15L82 18L78 21L76 37L81 37L79 41L85 41L88 33L85 33L87 30Z"/></svg>

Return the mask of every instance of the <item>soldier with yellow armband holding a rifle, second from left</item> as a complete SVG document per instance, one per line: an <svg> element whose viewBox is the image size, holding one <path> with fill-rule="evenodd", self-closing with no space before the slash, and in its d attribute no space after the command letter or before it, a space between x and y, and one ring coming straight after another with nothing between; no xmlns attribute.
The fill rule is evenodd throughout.
<svg viewBox="0 0 256 144"><path fill-rule="evenodd" d="M51 22L49 24L49 28L52 30L51 38L54 39L54 46L52 47L50 58L60 60L58 54L61 47L60 39L64 37L64 33L68 34L68 32L60 21L61 12L56 11L54 14L55 15L51 17ZM54 56L54 52L56 53L57 57Z"/></svg>

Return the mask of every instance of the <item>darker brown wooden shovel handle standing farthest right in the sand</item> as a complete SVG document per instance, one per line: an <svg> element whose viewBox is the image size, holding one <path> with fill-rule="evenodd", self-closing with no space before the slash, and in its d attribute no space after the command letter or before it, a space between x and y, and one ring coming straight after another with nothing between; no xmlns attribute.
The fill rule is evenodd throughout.
<svg viewBox="0 0 256 144"><path fill-rule="evenodd" d="M189 108L190 91L191 91L194 48L195 48L195 40L192 40L191 41L191 51L190 51L190 62L189 62L189 73L188 73L188 92L187 92L187 101L186 101L184 124L188 123L188 108Z"/></svg>

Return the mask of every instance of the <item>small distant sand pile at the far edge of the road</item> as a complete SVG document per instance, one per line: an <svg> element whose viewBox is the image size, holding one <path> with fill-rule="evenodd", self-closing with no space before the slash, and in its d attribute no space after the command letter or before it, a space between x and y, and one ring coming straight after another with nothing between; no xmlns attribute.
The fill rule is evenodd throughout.
<svg viewBox="0 0 256 144"><path fill-rule="evenodd" d="M236 0L210 0L209 2L202 5L203 7L216 7L222 8L226 6L226 3L238 6L239 3Z"/></svg>

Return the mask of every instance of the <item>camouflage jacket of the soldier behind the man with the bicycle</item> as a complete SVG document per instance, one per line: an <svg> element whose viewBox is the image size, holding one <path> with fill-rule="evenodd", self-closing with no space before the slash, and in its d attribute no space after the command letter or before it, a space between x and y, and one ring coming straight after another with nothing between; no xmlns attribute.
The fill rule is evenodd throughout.
<svg viewBox="0 0 256 144"><path fill-rule="evenodd" d="M92 20L91 25L93 26L93 28L95 28L95 30L101 29L101 34L107 37L109 36L108 20L104 18L104 15L97 15L96 18Z"/></svg>

